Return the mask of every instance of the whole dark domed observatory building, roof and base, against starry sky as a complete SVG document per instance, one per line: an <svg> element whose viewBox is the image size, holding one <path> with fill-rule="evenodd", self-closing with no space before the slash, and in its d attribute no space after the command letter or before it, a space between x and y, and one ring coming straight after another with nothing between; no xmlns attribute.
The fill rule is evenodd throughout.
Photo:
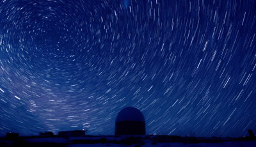
<svg viewBox="0 0 256 147"><path fill-rule="evenodd" d="M115 123L115 135L145 135L145 118L140 110L125 107L118 112Z"/></svg>

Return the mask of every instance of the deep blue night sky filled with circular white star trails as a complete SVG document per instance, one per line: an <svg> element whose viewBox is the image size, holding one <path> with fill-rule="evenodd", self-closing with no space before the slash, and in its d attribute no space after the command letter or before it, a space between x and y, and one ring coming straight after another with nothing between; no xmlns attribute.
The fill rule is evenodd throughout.
<svg viewBox="0 0 256 147"><path fill-rule="evenodd" d="M0 135L256 132L255 0L0 0Z"/></svg>

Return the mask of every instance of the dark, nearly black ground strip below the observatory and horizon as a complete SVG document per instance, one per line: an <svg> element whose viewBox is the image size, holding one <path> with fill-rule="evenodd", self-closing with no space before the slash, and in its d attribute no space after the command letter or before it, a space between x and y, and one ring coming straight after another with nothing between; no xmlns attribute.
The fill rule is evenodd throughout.
<svg viewBox="0 0 256 147"><path fill-rule="evenodd" d="M92 136L52 137L30 136L19 138L2 138L0 146L38 146L38 147L80 147L80 146L163 146L163 147L202 147L202 146L256 146L256 139L250 137L180 137L170 135L138 135L138 136Z"/></svg>

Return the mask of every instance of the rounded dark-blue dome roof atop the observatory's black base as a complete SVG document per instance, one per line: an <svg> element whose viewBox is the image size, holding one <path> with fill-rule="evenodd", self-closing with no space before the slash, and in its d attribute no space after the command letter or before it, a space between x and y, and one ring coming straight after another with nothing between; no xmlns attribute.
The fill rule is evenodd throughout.
<svg viewBox="0 0 256 147"><path fill-rule="evenodd" d="M141 121L145 123L143 114L134 107L125 107L122 111L118 112L116 123L120 121Z"/></svg>

